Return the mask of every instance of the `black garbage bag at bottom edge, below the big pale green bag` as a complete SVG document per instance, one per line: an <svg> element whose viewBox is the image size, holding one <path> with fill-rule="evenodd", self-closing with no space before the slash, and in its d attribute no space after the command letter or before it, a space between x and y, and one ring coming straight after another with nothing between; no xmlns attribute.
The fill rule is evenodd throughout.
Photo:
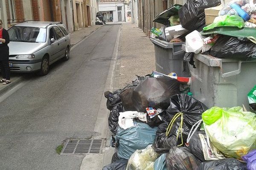
<svg viewBox="0 0 256 170"><path fill-rule="evenodd" d="M247 168L245 163L234 158L228 158L202 162L198 170L247 170Z"/></svg>

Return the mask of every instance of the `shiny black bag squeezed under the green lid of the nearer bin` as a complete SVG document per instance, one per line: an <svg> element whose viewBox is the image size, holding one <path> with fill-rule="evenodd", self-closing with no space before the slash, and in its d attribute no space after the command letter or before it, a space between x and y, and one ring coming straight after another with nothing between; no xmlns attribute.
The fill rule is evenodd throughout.
<svg viewBox="0 0 256 170"><path fill-rule="evenodd" d="M256 59L256 44L247 38L221 36L210 50L210 55L239 60Z"/></svg>

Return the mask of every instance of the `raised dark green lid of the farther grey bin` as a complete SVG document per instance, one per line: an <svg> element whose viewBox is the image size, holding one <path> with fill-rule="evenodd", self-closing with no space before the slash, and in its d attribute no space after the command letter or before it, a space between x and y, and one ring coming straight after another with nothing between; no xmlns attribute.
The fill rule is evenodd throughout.
<svg viewBox="0 0 256 170"><path fill-rule="evenodd" d="M178 11L181 7L182 5L175 4L171 8L168 8L162 13L160 13L159 15L157 15L157 17L154 18L153 22L160 23L163 25L169 25L170 24L169 18L175 14L178 14Z"/></svg>

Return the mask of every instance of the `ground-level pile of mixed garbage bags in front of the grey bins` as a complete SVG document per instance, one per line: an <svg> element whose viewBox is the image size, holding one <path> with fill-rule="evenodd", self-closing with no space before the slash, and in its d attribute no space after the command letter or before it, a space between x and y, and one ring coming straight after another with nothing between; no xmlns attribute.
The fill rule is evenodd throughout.
<svg viewBox="0 0 256 170"><path fill-rule="evenodd" d="M256 114L207 108L179 88L151 74L105 92L115 153L102 170L255 170Z"/></svg>

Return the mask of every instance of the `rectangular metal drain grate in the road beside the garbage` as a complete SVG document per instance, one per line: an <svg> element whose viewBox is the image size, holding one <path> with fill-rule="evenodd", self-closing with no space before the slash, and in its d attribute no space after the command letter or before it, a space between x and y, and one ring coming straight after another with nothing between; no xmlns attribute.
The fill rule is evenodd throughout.
<svg viewBox="0 0 256 170"><path fill-rule="evenodd" d="M102 153L105 139L68 139L61 154Z"/></svg>

